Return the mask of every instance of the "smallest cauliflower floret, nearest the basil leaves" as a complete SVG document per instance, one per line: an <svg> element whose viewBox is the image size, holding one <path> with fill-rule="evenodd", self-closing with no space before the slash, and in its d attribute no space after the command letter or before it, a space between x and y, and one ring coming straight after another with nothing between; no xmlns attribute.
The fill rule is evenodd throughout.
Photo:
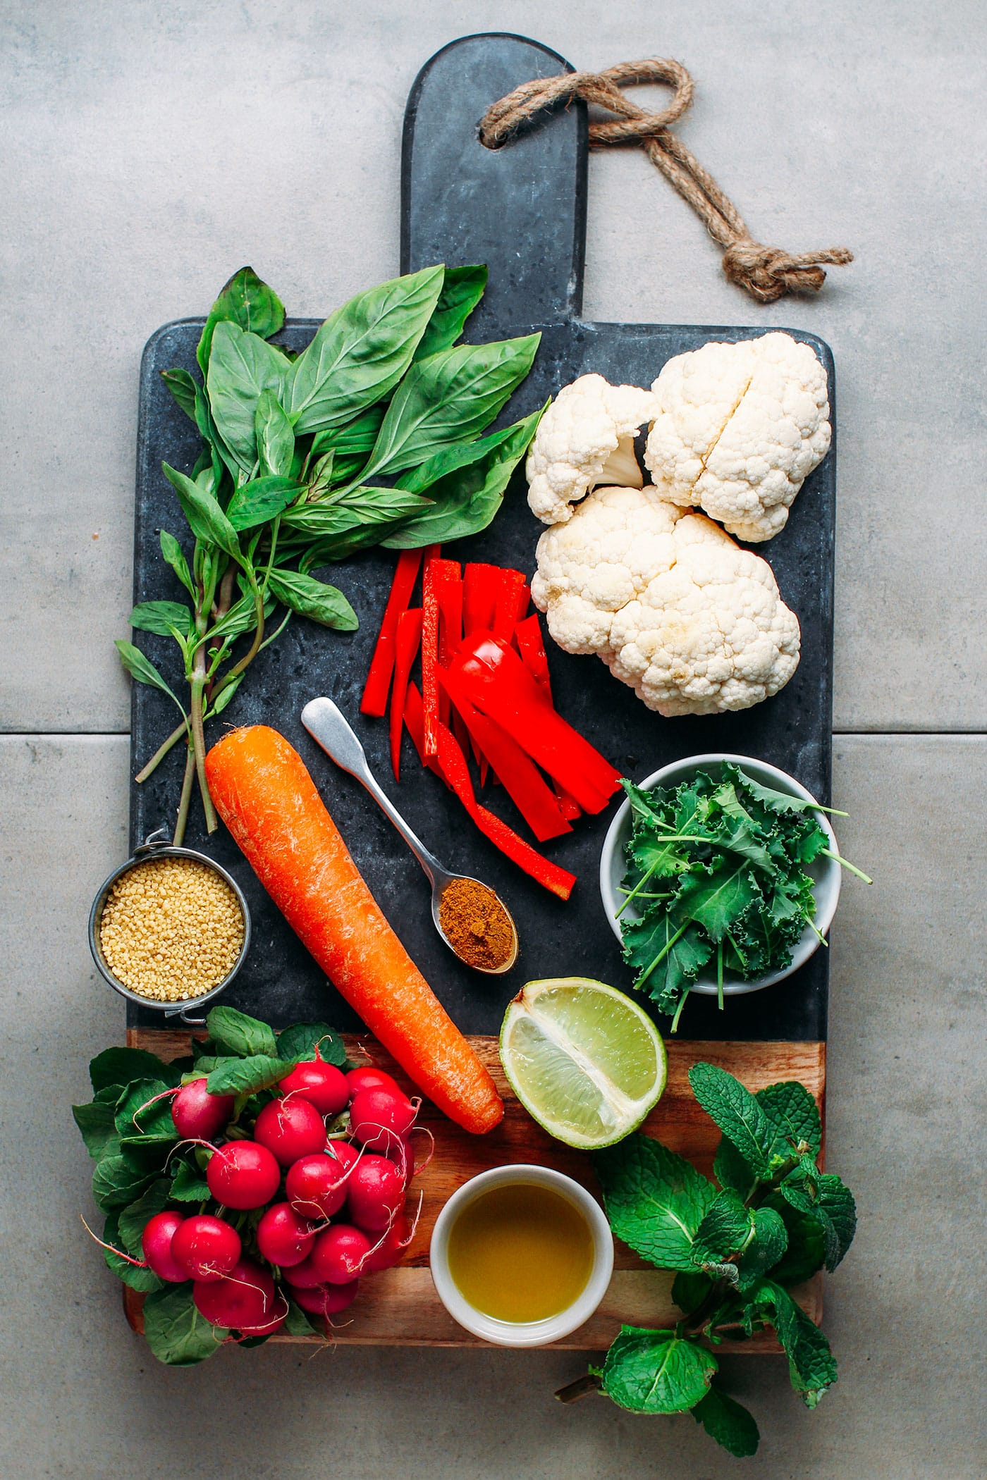
<svg viewBox="0 0 987 1480"><path fill-rule="evenodd" d="M656 414L651 391L583 374L562 386L528 451L528 505L543 524L564 524L598 482L639 488L633 437Z"/></svg>

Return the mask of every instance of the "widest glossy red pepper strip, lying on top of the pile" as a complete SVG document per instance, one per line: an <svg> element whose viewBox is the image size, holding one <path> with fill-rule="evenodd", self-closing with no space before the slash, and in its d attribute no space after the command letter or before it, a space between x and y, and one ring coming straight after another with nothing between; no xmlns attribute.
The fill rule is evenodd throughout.
<svg viewBox="0 0 987 1480"><path fill-rule="evenodd" d="M602 811L620 786L620 771L552 709L512 647L493 632L466 638L450 676L583 811Z"/></svg>

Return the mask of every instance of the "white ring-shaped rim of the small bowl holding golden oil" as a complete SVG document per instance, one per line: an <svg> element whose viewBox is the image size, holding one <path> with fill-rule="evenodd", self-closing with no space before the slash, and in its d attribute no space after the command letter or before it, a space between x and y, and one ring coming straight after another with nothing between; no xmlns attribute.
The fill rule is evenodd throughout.
<svg viewBox="0 0 987 1480"><path fill-rule="evenodd" d="M577 1299L556 1316L545 1320L496 1320L471 1305L453 1280L448 1268L448 1234L459 1214L491 1187L525 1185L550 1187L571 1202L586 1218L593 1239L593 1267ZM435 1220L429 1243L429 1268L435 1292L453 1320L499 1347L543 1347L561 1341L585 1325L602 1301L614 1270L614 1237L607 1215L592 1193L552 1166L512 1162L478 1172L457 1187Z"/></svg>

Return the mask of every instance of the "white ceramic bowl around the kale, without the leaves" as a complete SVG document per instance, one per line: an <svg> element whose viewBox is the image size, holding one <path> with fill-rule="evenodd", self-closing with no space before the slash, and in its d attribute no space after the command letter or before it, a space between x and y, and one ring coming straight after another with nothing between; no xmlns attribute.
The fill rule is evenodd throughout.
<svg viewBox="0 0 987 1480"><path fill-rule="evenodd" d="M815 801L812 793L808 792L801 781L796 781L793 776L787 774L787 771L780 771L777 765L768 765L767 761L755 761L753 756L749 755L727 755L724 752L690 755L684 761L673 761L672 765L663 765L660 771L653 771L653 774L647 776L639 786L644 792L661 787L675 787L679 786L681 781L691 781L698 771L704 771L716 780L727 764L740 767L740 770L744 771L753 781L759 781L762 786L769 786L775 792L786 792L789 796L798 796L806 802ZM826 814L817 811L812 815L818 821L820 827L829 835L829 847L832 851L838 852L836 835L833 833ZM617 919L617 912L620 910L624 898L620 889L624 882L627 867L624 850L630 839L630 802L624 801L610 824L604 839L604 851L599 858L599 892L604 901L604 910L607 912L610 928L621 943L623 937L620 932L620 919ZM842 869L833 858L821 855L806 864L805 872L812 879L812 895L815 898L815 929L818 929L821 935L826 935L833 922L833 915L836 913L836 904L839 901ZM641 916L635 910L633 903L629 904L621 915L621 919L639 918ZM727 977L724 980L724 996L741 996L744 992L759 992L762 987L774 986L775 981L784 981L784 978L790 977L799 969L799 966L804 966L818 947L818 935L806 925L802 935L792 947L792 961L787 966L783 966L778 971L764 972L759 977L752 977L749 981ZM713 971L710 975L709 969L700 971L690 990L698 992L703 996L715 998L716 972Z"/></svg>

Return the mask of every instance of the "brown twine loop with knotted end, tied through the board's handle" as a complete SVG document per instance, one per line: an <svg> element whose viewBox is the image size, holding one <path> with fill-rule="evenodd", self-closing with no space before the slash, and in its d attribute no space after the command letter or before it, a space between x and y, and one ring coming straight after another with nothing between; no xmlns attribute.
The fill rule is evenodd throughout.
<svg viewBox="0 0 987 1480"><path fill-rule="evenodd" d="M667 83L675 95L660 112L645 112L620 90L638 83ZM747 231L743 216L724 194L695 155L670 132L693 101L694 83L681 62L653 56L642 62L619 62L602 73L562 73L539 77L515 87L493 104L479 124L479 142L488 149L508 144L539 112L556 104L582 98L605 108L616 118L589 126L590 149L638 144L664 178L675 186L713 241L724 247L724 272L761 303L772 303L784 293L818 293L826 281L826 266L845 266L854 260L846 247L821 252L784 252L765 247Z"/></svg>

